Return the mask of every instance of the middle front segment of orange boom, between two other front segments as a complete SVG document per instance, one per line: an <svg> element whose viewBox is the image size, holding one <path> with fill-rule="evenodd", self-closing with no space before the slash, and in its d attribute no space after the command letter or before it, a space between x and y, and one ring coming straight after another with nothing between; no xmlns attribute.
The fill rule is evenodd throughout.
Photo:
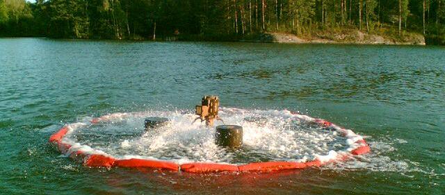
<svg viewBox="0 0 445 195"><path fill-rule="evenodd" d="M205 163L195 162L181 165L181 171L191 173L211 173L222 171L238 171L238 166L234 164L218 164L218 163Z"/></svg>

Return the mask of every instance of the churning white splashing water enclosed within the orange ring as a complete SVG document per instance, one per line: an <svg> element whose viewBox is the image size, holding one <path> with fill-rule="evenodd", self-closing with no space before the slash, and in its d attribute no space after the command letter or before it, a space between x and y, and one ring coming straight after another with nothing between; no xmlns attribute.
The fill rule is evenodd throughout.
<svg viewBox="0 0 445 195"><path fill-rule="evenodd" d="M316 155L348 148L345 137L300 121L286 110L241 110L222 108L225 124L243 126L241 149L215 144L214 128L195 115L179 111L147 111L74 130L72 142L90 146L117 158L145 158L184 162L244 164L259 161L313 160ZM170 123L156 130L144 130L146 117L167 117ZM222 124L217 121L216 125Z"/></svg>

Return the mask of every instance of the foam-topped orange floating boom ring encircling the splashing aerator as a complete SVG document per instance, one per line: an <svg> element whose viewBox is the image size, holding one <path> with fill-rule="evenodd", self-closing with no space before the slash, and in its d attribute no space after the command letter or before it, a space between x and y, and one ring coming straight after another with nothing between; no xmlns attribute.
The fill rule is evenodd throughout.
<svg viewBox="0 0 445 195"><path fill-rule="evenodd" d="M237 108L227 108L227 110L239 110ZM147 160L147 159L119 159L112 155L108 155L103 151L91 149L90 146L82 146L76 142L70 142L65 139L66 135L71 134L76 128L83 126L94 125L111 121L111 119L122 119L128 115L143 115L142 113L115 113L94 118L89 123L74 123L67 124L49 137L49 142L55 144L60 153L69 156L70 158L83 162L88 167L144 167L152 169L165 169L170 171L185 171L191 173L210 173L221 171L280 171L289 169L306 169L309 167L321 167L330 162L346 161L354 155L363 155L369 153L371 148L363 139L362 136L355 134L352 130L341 128L335 124L325 121L323 119L315 119L307 115L300 115L296 112L283 111L284 115L292 119L307 121L317 124L327 130L334 130L340 136L346 137L348 148L342 151L330 151L327 155L316 155L312 160L299 160L298 162L252 162L248 164L227 164L227 163L213 163L213 162L191 162L185 164L177 164L176 162L168 160ZM219 128L222 132L229 130L229 132L239 133L236 126L225 126ZM230 131L233 130L233 131ZM238 130L238 131L237 131ZM235 134L240 135L240 134ZM242 134L241 134L242 135ZM238 138L236 138L238 139Z"/></svg>

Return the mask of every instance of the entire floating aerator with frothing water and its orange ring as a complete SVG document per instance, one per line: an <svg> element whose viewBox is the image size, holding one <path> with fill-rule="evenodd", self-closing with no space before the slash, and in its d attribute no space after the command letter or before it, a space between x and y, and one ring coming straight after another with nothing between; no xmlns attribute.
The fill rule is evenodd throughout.
<svg viewBox="0 0 445 195"><path fill-rule="evenodd" d="M149 110L86 117L60 128L49 142L88 167L193 173L305 169L370 151L362 136L323 119L289 110L218 106L218 97L204 96L195 113ZM205 125L191 124L196 115ZM220 118L225 124L213 127Z"/></svg>

